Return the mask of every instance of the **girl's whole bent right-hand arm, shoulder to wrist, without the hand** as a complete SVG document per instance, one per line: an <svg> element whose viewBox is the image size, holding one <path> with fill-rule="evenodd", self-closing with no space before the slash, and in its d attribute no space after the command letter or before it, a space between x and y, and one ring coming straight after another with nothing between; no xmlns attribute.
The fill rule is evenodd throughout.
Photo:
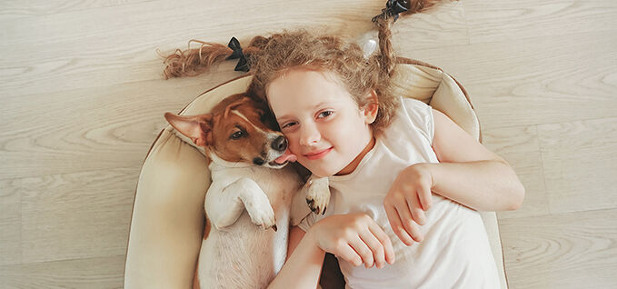
<svg viewBox="0 0 617 289"><path fill-rule="evenodd" d="M433 110L433 118L433 150L441 162L425 164L433 192L478 211L521 207L525 191L510 164L443 113Z"/></svg>

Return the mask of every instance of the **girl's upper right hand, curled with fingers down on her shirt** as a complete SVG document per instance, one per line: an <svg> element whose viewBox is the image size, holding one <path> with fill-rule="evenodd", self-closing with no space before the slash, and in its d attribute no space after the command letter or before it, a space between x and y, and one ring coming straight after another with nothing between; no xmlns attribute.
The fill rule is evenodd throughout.
<svg viewBox="0 0 617 289"><path fill-rule="evenodd" d="M433 177L428 164L413 164L396 177L383 199L390 225L406 245L422 242L420 225L426 222L424 211L431 207Z"/></svg>

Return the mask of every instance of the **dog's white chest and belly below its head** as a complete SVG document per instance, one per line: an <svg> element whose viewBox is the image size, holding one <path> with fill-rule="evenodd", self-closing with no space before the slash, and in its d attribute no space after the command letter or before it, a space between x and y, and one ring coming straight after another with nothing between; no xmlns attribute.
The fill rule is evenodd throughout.
<svg viewBox="0 0 617 289"><path fill-rule="evenodd" d="M206 195L206 214L225 214L224 203L208 202L235 194L224 187L232 184L238 177L249 177L267 195L274 210L277 231L264 230L253 224L251 217L241 208L240 216L234 222L220 229L212 226L211 232L202 243L199 256L198 274L202 288L264 288L284 264L287 254L289 234L290 204L293 194L298 191L300 182L291 168L273 170L260 167L247 167L234 172L234 177L216 183L216 177L229 177L229 172L216 175L213 171L212 191ZM215 184L216 183L216 184ZM217 187L219 186L219 187ZM262 193L263 194L263 193ZM237 201L232 198L232 203ZM234 203L237 204L237 203ZM213 207L215 206L215 207Z"/></svg>

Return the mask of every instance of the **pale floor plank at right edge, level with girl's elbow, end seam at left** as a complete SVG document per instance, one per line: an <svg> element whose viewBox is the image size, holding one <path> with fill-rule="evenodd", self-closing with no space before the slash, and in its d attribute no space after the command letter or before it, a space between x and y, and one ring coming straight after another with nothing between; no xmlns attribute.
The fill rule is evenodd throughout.
<svg viewBox="0 0 617 289"><path fill-rule="evenodd" d="M617 117L538 125L553 214L617 207Z"/></svg>

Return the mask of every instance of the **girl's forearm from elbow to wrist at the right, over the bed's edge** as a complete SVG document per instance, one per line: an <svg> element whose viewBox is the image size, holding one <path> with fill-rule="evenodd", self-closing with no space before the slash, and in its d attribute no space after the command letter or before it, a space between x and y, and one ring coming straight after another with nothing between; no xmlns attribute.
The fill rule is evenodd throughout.
<svg viewBox="0 0 617 289"><path fill-rule="evenodd" d="M478 211L516 210L525 191L512 167L501 161L426 165L432 191Z"/></svg>

